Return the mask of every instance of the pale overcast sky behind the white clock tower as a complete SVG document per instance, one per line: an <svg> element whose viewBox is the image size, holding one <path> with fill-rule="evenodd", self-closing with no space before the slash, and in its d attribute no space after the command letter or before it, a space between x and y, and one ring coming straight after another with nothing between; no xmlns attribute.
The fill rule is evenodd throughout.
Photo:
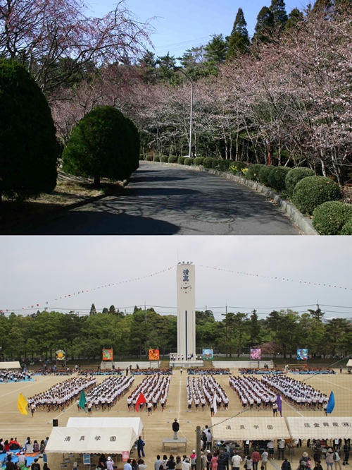
<svg viewBox="0 0 352 470"><path fill-rule="evenodd" d="M0 310L130 313L145 302L175 314L176 265L191 261L196 308L217 320L225 306L265 318L317 302L326 318L352 319L351 255L347 236L1 236Z"/></svg>

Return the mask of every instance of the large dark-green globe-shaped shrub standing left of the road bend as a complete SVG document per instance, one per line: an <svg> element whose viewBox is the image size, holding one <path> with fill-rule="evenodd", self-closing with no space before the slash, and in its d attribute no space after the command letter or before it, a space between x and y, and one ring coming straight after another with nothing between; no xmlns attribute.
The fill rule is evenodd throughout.
<svg viewBox="0 0 352 470"><path fill-rule="evenodd" d="M127 179L138 167L139 134L130 119L110 106L86 114L73 129L63 150L63 170L90 176L99 186L101 177Z"/></svg>

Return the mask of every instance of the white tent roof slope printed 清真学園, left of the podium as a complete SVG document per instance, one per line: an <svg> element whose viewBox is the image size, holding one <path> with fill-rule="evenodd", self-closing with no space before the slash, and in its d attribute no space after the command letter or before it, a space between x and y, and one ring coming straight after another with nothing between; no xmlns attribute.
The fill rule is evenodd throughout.
<svg viewBox="0 0 352 470"><path fill-rule="evenodd" d="M122 454L136 440L133 428L53 428L45 452Z"/></svg>

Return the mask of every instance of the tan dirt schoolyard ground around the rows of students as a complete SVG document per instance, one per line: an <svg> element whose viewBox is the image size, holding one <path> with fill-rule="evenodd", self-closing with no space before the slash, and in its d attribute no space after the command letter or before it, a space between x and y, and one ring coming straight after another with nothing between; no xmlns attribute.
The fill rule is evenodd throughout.
<svg viewBox="0 0 352 470"><path fill-rule="evenodd" d="M224 365L225 366L225 365ZM239 375L237 370L231 370L234 375ZM197 375L195 375L197 377ZM352 375L346 373L339 373L337 370L336 375L291 375L289 377L297 380L304 380L309 385L316 389L324 392L329 396L330 392L334 392L335 397L335 408L331 416L352 416ZM32 442L34 439L40 440L45 439L46 436L50 436L53 428L53 419L58 419L58 426L66 426L68 418L70 416L87 416L83 410L77 411L76 401L73 402L68 408L63 411L36 411L34 416L27 414L24 416L18 411L17 400L20 392L25 397L30 397L33 394L42 392L52 385L58 382L68 379L68 376L54 376L54 375L34 375L34 382L17 382L17 383L1 383L0 384L0 438L4 440L10 438L17 438L21 445L25 442L27 436L30 436ZM145 378L145 375L134 376L134 385L132 385L131 391L134 387L139 385L140 382ZM256 376L260 378L260 376ZM100 383L106 378L106 375L97 376L97 383ZM227 411L221 409L216 414L217 417L230 417L236 415L241 411L241 403L230 388L229 375L214 375L215 380L224 388L227 393L227 397L230 400L229 409ZM180 438L187 438L187 455L189 456L193 449L196 449L196 426L204 428L207 424L210 426L210 409L206 406L205 411L187 411L187 394L186 394L186 382L187 382L187 370L183 370L180 373L180 369L174 369L173 375L170 380L170 390L168 394L168 402L166 404L165 411L161 411L161 406L153 412L151 416L147 416L146 411L137 413L136 411L127 411L127 394L125 394L120 401L113 406L111 411L94 411L92 416L111 416L111 417L132 417L139 416L142 418L144 425L144 441L146 443L144 451L146 454L145 463L149 470L153 470L153 463L156 460L156 455L161 454L163 457L163 438L172 438L172 421L175 418L180 422ZM244 416L272 416L272 410L260 410L251 409L246 411ZM282 416L324 416L323 411L313 410L295 410L287 402L282 402ZM241 417L239 417L240 419ZM313 436L312 436L313 437ZM292 470L296 470L298 466L299 457L303 451L306 441L303 442L303 447L295 449L293 463L291 463ZM276 445L275 445L276 448ZM168 451L168 455L169 455ZM183 452L180 452L182 455ZM308 449L308 454L312 456L313 450ZM136 457L137 452L132 454L132 457ZM63 461L62 454L48 454L48 465L51 470L61 469L61 462ZM39 463L42 466L42 459L39 459ZM116 464L116 459L115 459ZM118 469L123 468L121 461L117 462ZM268 470L281 469L282 461L275 459L268 464ZM322 462L322 466L325 469L326 464ZM68 466L68 470L72 468ZM82 468L80 467L80 470Z"/></svg>

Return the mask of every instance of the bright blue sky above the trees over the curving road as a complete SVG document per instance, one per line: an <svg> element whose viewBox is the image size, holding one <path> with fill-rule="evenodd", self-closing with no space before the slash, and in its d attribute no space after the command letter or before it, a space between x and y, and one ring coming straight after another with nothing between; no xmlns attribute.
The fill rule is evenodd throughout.
<svg viewBox="0 0 352 470"><path fill-rule="evenodd" d="M113 10L116 3L87 0L87 15L101 17ZM308 3L307 0L286 0L287 13L295 7L302 10ZM156 56L170 52L175 57L182 56L191 47L207 44L215 34L230 35L239 8L244 11L249 35L253 36L260 8L270 4L271 0L125 0L125 6L136 20L144 23L152 18L151 42Z"/></svg>

